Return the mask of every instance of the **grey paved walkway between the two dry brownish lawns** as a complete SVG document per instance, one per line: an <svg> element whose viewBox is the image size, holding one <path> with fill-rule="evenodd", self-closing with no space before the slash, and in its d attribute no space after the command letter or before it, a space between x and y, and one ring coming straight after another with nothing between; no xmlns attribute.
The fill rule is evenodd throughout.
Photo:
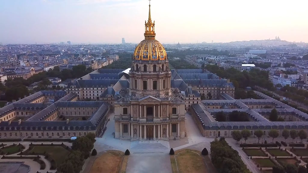
<svg viewBox="0 0 308 173"><path fill-rule="evenodd" d="M131 153L126 173L171 173L169 153Z"/></svg>

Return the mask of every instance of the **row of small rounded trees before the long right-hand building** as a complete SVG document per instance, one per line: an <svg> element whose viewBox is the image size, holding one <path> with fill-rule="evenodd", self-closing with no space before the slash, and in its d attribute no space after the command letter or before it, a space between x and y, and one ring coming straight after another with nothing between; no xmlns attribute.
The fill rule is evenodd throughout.
<svg viewBox="0 0 308 173"><path fill-rule="evenodd" d="M248 130L248 129L243 129L241 131L239 130L235 130L232 132L232 138L235 140L235 141L240 141L242 138L244 138L245 140L245 143L246 143L246 140L248 139L248 137L251 135L251 132ZM257 138L258 138L258 143L260 142L260 138L264 135L263 134L263 131L262 130L255 130L253 135L255 135ZM269 132L268 132L268 135L273 138L273 142L274 142L274 139L277 138L279 136L279 131L276 130L276 129L271 129ZM284 129L282 131L282 134L281 134L285 139L288 139L289 137L291 137L293 140L296 139L297 137L299 137L301 139L301 142L303 139L306 139L307 138L307 132L305 130L300 130L300 131L296 131L294 129L292 130L288 130L288 129ZM292 140L292 141L293 141Z"/></svg>

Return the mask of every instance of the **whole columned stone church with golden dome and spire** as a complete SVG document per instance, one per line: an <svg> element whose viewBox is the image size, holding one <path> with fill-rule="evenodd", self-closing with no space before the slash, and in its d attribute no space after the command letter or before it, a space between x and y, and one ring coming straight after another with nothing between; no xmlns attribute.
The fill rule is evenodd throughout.
<svg viewBox="0 0 308 173"><path fill-rule="evenodd" d="M144 40L132 55L129 88L115 94L117 139L169 140L185 135L185 93L171 88L168 56L155 36L149 5Z"/></svg>

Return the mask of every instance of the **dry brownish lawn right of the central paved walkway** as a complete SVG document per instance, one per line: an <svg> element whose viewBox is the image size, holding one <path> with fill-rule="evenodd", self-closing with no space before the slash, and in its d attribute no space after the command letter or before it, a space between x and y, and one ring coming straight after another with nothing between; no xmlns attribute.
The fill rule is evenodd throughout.
<svg viewBox="0 0 308 173"><path fill-rule="evenodd" d="M204 173L206 170L202 156L193 151L181 151L176 160L180 173Z"/></svg>

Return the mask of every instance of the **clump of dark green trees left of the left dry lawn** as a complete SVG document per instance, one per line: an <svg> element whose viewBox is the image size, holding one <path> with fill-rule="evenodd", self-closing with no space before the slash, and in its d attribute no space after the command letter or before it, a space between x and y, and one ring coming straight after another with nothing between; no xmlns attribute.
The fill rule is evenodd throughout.
<svg viewBox="0 0 308 173"><path fill-rule="evenodd" d="M73 151L57 168L57 171L60 173L79 173L82 170L84 160L90 156L90 151L93 149L95 141L94 133L77 137L72 144Z"/></svg>

